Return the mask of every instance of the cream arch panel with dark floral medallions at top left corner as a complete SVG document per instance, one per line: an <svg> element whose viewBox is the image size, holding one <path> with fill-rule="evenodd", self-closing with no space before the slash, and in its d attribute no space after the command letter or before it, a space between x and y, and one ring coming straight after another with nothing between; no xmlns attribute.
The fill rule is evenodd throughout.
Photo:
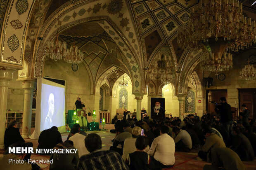
<svg viewBox="0 0 256 170"><path fill-rule="evenodd" d="M2 37L0 61L22 68L25 34L33 5L36 0L12 0L7 9L5 34Z"/></svg>

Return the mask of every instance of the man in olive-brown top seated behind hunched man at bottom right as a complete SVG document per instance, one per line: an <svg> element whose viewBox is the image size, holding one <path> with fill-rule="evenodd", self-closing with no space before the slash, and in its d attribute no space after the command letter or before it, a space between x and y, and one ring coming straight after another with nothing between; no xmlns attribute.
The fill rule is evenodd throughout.
<svg viewBox="0 0 256 170"><path fill-rule="evenodd" d="M203 161L210 161L209 154L211 154L211 149L213 147L226 147L223 139L221 139L215 133L212 133L210 129L204 129L203 134L206 138L205 144L203 147L199 148L198 156Z"/></svg>

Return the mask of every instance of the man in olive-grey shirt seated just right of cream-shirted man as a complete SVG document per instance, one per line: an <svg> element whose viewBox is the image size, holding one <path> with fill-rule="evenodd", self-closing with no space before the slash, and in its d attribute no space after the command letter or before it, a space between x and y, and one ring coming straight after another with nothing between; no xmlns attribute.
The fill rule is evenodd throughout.
<svg viewBox="0 0 256 170"><path fill-rule="evenodd" d="M175 133L175 150L188 152L192 149L192 140L190 134L186 130L181 130L178 127L173 128L173 133Z"/></svg>

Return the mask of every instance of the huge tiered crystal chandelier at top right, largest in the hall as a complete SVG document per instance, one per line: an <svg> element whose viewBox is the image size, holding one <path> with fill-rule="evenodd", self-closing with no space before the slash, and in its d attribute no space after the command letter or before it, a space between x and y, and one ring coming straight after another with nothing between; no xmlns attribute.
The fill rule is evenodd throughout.
<svg viewBox="0 0 256 170"><path fill-rule="evenodd" d="M256 24L244 18L235 0L200 0L190 10L187 28L178 29L178 44L192 51L203 49L202 68L220 72L232 68L231 51L256 42ZM224 55L223 55L224 54Z"/></svg>

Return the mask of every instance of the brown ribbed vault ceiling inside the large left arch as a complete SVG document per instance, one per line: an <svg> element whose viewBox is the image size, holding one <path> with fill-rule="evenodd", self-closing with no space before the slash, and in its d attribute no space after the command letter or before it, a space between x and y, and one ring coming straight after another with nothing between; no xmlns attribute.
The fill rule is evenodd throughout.
<svg viewBox="0 0 256 170"><path fill-rule="evenodd" d="M84 28L87 28L86 31ZM108 69L108 65L105 65L102 61L109 56L114 58L116 66L120 66L128 74L131 72L128 61L121 52L121 49L96 22L83 23L64 30L60 33L59 38L65 41L69 47L75 44L83 52L85 64L88 65L94 82L97 80L96 77L100 77L103 74L102 71ZM120 74L122 75L123 73L124 71L116 69L115 74L117 77L110 76L109 83L111 84L113 80L115 82Z"/></svg>

